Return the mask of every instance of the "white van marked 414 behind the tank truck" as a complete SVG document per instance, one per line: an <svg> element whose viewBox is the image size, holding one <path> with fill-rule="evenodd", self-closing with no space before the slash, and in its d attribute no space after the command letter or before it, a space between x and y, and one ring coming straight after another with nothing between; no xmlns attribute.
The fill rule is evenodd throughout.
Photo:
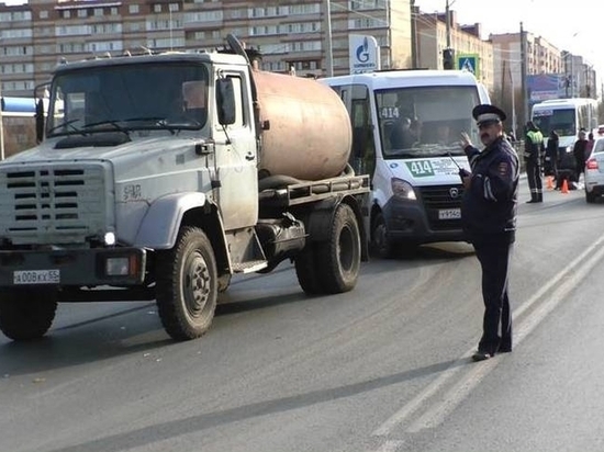
<svg viewBox="0 0 604 452"><path fill-rule="evenodd" d="M372 248L462 240L459 146L481 147L472 109L490 103L471 72L393 70L321 79L339 93L353 124L350 163L371 176L367 212Z"/></svg>

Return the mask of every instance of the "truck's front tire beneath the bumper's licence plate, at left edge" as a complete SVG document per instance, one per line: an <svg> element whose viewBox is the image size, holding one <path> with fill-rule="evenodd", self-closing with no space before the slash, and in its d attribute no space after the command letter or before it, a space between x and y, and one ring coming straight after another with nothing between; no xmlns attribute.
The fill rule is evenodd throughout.
<svg viewBox="0 0 604 452"><path fill-rule="evenodd" d="M0 330L12 340L40 339L55 319L57 302L52 298L38 290L2 292Z"/></svg>

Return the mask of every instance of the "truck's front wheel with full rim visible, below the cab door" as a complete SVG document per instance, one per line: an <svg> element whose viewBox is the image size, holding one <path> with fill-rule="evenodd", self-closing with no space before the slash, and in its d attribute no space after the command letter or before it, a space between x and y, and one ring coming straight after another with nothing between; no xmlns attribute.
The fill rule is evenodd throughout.
<svg viewBox="0 0 604 452"><path fill-rule="evenodd" d="M217 300L216 260L203 230L183 227L175 247L156 265L157 310L176 340L195 339L212 324Z"/></svg>

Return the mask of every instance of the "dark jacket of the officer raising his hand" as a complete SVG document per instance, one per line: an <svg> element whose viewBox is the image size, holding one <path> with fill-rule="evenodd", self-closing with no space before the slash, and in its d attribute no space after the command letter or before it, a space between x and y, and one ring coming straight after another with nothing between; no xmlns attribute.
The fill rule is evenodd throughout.
<svg viewBox="0 0 604 452"><path fill-rule="evenodd" d="M503 138L481 152L465 148L472 168L471 184L463 192L461 223L470 242L515 239L518 199L518 156Z"/></svg>

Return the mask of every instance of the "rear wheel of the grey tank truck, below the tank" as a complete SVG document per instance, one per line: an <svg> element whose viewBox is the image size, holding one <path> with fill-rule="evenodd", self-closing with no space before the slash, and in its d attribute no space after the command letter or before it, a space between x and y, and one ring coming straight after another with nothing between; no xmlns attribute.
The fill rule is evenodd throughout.
<svg viewBox="0 0 604 452"><path fill-rule="evenodd" d="M329 240L317 247L321 289L328 294L348 292L357 284L361 259L359 225L353 208L339 204L329 228Z"/></svg>

